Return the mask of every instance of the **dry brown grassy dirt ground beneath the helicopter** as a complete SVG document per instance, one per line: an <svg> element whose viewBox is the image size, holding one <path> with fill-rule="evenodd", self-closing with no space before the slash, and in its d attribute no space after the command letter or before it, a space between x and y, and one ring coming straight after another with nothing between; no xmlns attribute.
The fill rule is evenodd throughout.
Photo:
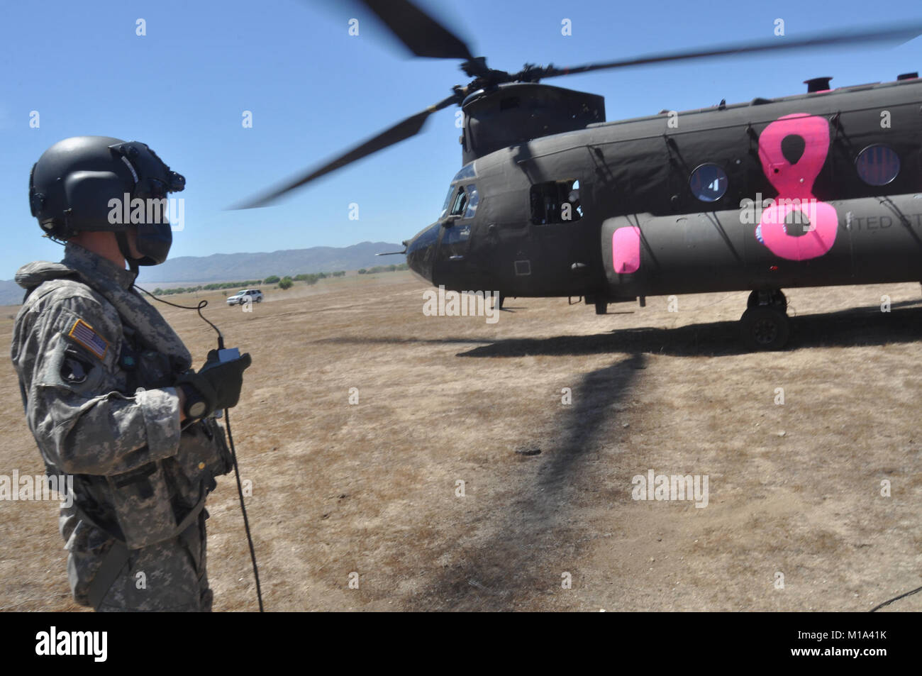
<svg viewBox="0 0 922 676"><path fill-rule="evenodd" d="M425 316L425 290L331 279L252 313L205 296L253 356L231 425L266 610L865 611L922 585L918 284L786 291L794 333L771 353L739 343L746 293L601 316L509 299L488 324ZM213 331L158 307L200 363ZM0 474L38 474L15 312ZM650 469L706 476L707 506L632 499ZM208 510L215 610L253 611L232 475ZM0 609L83 610L56 504L0 502L0 534Z"/></svg>

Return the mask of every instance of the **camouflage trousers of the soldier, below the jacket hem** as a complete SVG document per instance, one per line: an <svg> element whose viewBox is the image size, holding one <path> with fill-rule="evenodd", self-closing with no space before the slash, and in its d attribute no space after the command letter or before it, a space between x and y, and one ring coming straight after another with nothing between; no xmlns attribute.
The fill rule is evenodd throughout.
<svg viewBox="0 0 922 676"><path fill-rule="evenodd" d="M206 518L203 510L179 537L129 551L128 562L96 611L210 612Z"/></svg>

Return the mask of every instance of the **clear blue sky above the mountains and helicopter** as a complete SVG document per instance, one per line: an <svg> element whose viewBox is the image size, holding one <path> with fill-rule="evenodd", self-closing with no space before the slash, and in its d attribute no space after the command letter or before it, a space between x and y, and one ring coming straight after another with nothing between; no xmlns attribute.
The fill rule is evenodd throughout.
<svg viewBox="0 0 922 676"><path fill-rule="evenodd" d="M796 37L922 19L917 0L466 0L423 3L488 64L581 65L642 53ZM834 12L833 12L834 7ZM41 8L41 9L40 9ZM872 13L869 11L872 9ZM6 3L0 25L0 279L57 260L28 206L32 163L67 136L139 140L185 175L185 227L171 255L400 242L438 215L460 167L455 109L420 136L327 176L272 208L226 210L443 99L465 76L451 60L410 59L342 2ZM359 18L360 35L348 34ZM136 35L136 19L147 35ZM573 35L561 35L561 19ZM654 65L549 80L606 98L609 120L799 93L922 70L922 38L899 47ZM40 113L30 128L30 112ZM252 111L253 128L242 127ZM349 204L359 220L349 220ZM143 279L143 273L142 273Z"/></svg>

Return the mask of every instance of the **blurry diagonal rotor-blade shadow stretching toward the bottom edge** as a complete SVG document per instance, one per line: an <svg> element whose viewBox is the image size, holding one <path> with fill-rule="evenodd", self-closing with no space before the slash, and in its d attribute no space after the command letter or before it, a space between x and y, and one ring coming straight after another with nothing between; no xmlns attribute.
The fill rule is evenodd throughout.
<svg viewBox="0 0 922 676"><path fill-rule="evenodd" d="M620 427L618 404L631 397L645 362L633 354L585 374L573 387L573 406L549 414L560 432L539 443L540 455L530 455L538 450L531 445L503 451L523 465L511 504L502 516L479 521L490 528L481 537L475 530L473 540L453 543L456 563L421 590L414 610L523 610L521 603L536 593L560 588L560 566L573 561L583 541L571 505L590 490L587 461L606 443L609 428ZM529 468L532 463L537 468Z"/></svg>

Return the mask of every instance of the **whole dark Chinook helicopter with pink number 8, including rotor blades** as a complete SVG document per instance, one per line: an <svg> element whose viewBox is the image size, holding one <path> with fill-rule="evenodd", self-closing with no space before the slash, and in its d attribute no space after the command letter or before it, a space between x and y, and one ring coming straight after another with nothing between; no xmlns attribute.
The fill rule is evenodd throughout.
<svg viewBox="0 0 922 676"><path fill-rule="evenodd" d="M462 168L436 222L404 242L408 266L448 290L502 297L751 291L753 349L786 344L782 291L922 281L922 79L830 89L606 122L602 97L539 84L595 70L735 53L899 42L922 26L775 39L518 73L488 68L408 0L364 0L418 56L463 59L473 80L325 165L290 190L464 113Z"/></svg>

